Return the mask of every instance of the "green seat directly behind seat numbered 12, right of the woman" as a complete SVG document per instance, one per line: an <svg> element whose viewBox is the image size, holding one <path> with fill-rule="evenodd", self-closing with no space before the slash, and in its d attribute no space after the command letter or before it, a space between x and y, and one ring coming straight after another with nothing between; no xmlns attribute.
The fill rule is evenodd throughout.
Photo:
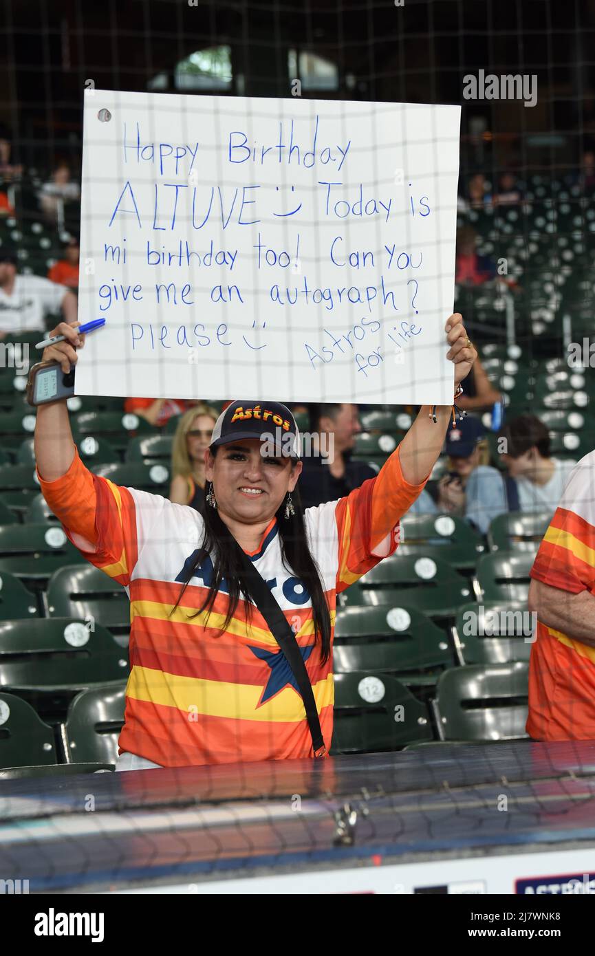
<svg viewBox="0 0 595 956"><path fill-rule="evenodd" d="M447 635L421 611L405 607L338 608L333 670L391 674L404 684L435 684L453 663Z"/></svg>

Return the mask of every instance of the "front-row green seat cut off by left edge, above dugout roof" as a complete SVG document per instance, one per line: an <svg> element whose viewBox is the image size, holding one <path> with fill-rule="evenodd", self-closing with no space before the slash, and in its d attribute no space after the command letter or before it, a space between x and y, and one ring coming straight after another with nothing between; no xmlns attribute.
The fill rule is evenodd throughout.
<svg viewBox="0 0 595 956"><path fill-rule="evenodd" d="M0 767L55 764L54 731L30 704L0 691Z"/></svg>

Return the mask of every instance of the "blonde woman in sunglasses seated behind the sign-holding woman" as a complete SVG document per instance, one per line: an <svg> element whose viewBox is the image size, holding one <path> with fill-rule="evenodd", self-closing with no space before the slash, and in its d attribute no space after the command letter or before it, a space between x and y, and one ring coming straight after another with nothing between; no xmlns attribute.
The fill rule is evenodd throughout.
<svg viewBox="0 0 595 956"><path fill-rule="evenodd" d="M184 413L171 448L169 499L203 511L205 505L205 451L209 448L218 413L207 404L194 405Z"/></svg>

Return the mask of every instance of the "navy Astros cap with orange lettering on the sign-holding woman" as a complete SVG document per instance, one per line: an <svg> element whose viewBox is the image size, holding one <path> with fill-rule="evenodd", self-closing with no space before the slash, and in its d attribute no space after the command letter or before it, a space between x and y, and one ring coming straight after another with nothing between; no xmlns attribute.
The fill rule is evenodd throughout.
<svg viewBox="0 0 595 956"><path fill-rule="evenodd" d="M210 447L255 438L275 445L277 454L299 458L299 431L296 419L281 402L231 402L217 419Z"/></svg>

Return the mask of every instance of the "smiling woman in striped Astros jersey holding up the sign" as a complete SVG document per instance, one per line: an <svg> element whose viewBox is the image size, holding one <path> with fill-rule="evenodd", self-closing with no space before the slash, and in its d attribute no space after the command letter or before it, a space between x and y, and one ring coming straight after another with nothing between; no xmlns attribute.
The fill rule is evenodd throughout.
<svg viewBox="0 0 595 956"><path fill-rule="evenodd" d="M476 352L461 315L450 316L446 332L457 387ZM67 340L43 358L67 371L83 337L65 323L53 335ZM435 421L421 408L376 477L303 511L293 415L278 402L231 402L206 452L203 516L92 474L78 457L66 403L39 406L35 457L45 499L81 553L130 598L118 769L314 758L293 672L245 599L251 588L237 545L293 628L330 747L337 595L394 553L399 518L424 488L452 421L451 405L433 412Z"/></svg>

